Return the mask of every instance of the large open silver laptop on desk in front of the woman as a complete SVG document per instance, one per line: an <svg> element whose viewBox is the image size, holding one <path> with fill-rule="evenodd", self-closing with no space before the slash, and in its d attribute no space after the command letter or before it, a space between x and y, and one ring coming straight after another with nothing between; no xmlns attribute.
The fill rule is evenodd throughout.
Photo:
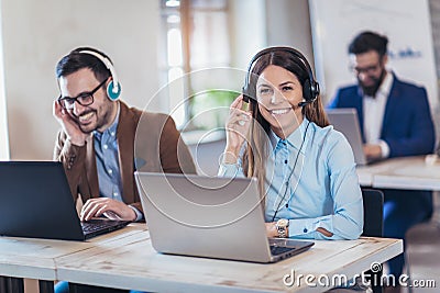
<svg viewBox="0 0 440 293"><path fill-rule="evenodd" d="M147 172L135 178L158 252L276 262L314 245L266 237L255 179Z"/></svg>

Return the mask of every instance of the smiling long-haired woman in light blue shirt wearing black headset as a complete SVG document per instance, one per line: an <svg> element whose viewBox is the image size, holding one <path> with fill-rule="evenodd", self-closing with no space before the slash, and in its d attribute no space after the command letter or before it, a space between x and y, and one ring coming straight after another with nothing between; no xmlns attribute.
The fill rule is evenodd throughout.
<svg viewBox="0 0 440 293"><path fill-rule="evenodd" d="M310 65L292 47L252 58L243 94L230 108L219 174L257 178L268 237L355 239L362 233L353 153L329 126Z"/></svg>

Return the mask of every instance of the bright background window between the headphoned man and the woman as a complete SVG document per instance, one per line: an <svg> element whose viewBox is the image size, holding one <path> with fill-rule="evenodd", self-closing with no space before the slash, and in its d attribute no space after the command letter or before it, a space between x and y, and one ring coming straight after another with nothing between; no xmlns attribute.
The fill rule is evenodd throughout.
<svg viewBox="0 0 440 293"><path fill-rule="evenodd" d="M166 36L162 79L168 84L173 119L185 129L223 126L237 89L217 89L213 82L196 78L201 74L193 72L231 66L228 1L161 0L161 11Z"/></svg>

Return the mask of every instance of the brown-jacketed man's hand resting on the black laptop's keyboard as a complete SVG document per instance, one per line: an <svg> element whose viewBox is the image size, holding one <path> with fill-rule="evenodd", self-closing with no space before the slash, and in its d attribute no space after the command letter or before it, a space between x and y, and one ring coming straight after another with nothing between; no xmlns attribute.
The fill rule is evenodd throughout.
<svg viewBox="0 0 440 293"><path fill-rule="evenodd" d="M92 217L105 215L110 219L134 221L136 213L123 202L108 198L90 199L82 206L80 219L89 221Z"/></svg>

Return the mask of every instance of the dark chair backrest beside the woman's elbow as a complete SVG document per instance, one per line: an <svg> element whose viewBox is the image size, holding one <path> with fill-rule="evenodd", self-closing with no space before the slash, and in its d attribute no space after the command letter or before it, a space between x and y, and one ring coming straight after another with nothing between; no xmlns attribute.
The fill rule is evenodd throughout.
<svg viewBox="0 0 440 293"><path fill-rule="evenodd" d="M364 232L363 236L382 237L384 235L384 193L380 190L363 189Z"/></svg>

